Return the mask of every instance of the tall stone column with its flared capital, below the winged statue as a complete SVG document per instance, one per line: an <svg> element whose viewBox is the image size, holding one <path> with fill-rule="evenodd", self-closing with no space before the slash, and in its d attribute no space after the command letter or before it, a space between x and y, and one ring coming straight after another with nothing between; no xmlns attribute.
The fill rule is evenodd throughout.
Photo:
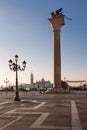
<svg viewBox="0 0 87 130"><path fill-rule="evenodd" d="M48 19L53 30L53 87L61 89L61 44L60 31L64 25L64 16L58 15Z"/></svg>

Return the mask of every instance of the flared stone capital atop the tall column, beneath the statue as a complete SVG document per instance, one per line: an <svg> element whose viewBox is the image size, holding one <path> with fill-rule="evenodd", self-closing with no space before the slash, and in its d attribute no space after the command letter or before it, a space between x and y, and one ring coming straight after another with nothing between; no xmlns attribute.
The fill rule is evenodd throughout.
<svg viewBox="0 0 87 130"><path fill-rule="evenodd" d="M60 15L57 17L53 17L48 19L48 22L53 30L60 30L61 27L64 25L64 16Z"/></svg>

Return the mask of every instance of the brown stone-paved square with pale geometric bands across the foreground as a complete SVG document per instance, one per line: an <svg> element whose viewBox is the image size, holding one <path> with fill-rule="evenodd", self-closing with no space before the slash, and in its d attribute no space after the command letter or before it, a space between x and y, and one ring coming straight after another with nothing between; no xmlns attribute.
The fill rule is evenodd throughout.
<svg viewBox="0 0 87 130"><path fill-rule="evenodd" d="M0 93L0 130L87 130L87 93Z"/></svg>

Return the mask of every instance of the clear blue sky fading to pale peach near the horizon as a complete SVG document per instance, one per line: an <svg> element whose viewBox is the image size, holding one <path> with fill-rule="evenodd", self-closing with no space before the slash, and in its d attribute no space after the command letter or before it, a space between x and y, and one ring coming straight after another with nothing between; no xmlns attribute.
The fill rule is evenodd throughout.
<svg viewBox="0 0 87 130"><path fill-rule="evenodd" d="M19 56L27 62L18 72L19 83L53 82L51 12L63 8L65 25L61 28L61 79L87 80L87 0L0 0L0 85L6 78L15 84L9 59Z"/></svg>

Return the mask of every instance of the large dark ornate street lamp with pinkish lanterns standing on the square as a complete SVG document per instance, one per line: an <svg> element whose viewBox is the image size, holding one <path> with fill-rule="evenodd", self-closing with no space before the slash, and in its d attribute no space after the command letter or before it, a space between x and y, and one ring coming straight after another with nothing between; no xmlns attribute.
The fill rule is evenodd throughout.
<svg viewBox="0 0 87 130"><path fill-rule="evenodd" d="M19 97L19 90L18 90L18 70L20 71L24 71L25 67L26 67L26 61L22 62L23 68L20 67L20 65L18 65L18 55L15 55L15 63L10 59L9 62L9 68L12 71L16 72L16 96L14 101L20 101L20 97Z"/></svg>

